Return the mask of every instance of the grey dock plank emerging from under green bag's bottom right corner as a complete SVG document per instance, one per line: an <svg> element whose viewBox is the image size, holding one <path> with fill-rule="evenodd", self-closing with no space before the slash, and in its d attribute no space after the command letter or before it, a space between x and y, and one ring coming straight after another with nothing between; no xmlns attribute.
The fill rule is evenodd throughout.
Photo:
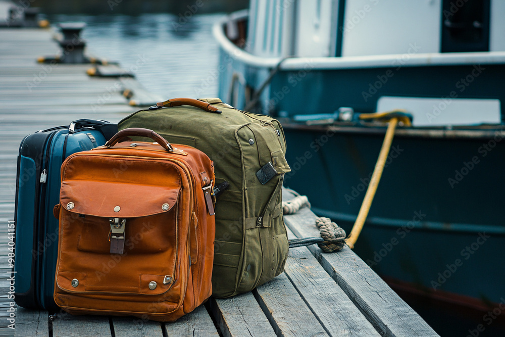
<svg viewBox="0 0 505 337"><path fill-rule="evenodd" d="M252 294L277 335L328 335L284 273L260 285Z"/></svg>

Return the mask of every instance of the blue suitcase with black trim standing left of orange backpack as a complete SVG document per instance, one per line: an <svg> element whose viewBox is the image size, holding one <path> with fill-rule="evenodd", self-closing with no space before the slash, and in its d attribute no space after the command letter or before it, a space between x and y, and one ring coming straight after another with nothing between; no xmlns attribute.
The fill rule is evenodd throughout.
<svg viewBox="0 0 505 337"><path fill-rule="evenodd" d="M25 308L57 310L60 168L69 155L105 144L118 132L106 121L80 119L26 136L18 154L15 206L14 299Z"/></svg>

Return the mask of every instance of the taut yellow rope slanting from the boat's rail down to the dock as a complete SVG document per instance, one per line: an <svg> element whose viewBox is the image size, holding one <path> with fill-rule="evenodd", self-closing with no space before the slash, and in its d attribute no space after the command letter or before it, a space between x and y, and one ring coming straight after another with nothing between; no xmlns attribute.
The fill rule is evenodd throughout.
<svg viewBox="0 0 505 337"><path fill-rule="evenodd" d="M382 142L379 158L375 164L374 173L372 174L372 179L370 179L370 184L368 185L365 198L363 199L363 204L361 204L360 212L358 213L354 226L352 226L349 236L345 239L345 243L351 249L354 248L354 244L356 244L356 240L358 240L358 236L360 235L363 225L365 224L365 220L367 219L368 211L370 211L370 206L372 206L372 201L374 200L375 192L377 191L377 186L379 185L382 171L384 170L384 165L386 163L387 155L389 154L389 149L391 148L391 142L393 141L394 130L396 129L397 124L398 117L393 117L389 121L386 136Z"/></svg>

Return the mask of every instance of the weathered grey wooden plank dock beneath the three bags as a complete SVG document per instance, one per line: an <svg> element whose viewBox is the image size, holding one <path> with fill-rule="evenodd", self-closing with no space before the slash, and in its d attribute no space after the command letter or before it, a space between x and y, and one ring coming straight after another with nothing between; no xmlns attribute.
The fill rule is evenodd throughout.
<svg viewBox="0 0 505 337"><path fill-rule="evenodd" d="M8 328L12 300L7 298L7 223L14 218L16 157L22 138L79 118L118 122L138 109L128 105L122 90L114 91L118 86L136 92L132 99L141 104L159 100L132 79L88 76L90 65L36 63L39 56L59 53L52 34L41 29L0 30L0 335L437 335L351 250L326 254L317 246L290 249L285 271L274 280L246 294L210 299L174 323L63 311L49 320L46 311L15 308L15 330ZM284 191L284 199L292 197ZM318 235L315 215L307 208L286 216L285 222L291 237Z"/></svg>

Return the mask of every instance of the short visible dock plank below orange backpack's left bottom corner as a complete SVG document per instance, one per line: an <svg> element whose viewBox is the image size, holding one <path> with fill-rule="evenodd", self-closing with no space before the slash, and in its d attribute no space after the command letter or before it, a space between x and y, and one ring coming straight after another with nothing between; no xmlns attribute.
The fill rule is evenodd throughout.
<svg viewBox="0 0 505 337"><path fill-rule="evenodd" d="M53 321L53 337L112 336L109 317L73 316L62 312Z"/></svg>

